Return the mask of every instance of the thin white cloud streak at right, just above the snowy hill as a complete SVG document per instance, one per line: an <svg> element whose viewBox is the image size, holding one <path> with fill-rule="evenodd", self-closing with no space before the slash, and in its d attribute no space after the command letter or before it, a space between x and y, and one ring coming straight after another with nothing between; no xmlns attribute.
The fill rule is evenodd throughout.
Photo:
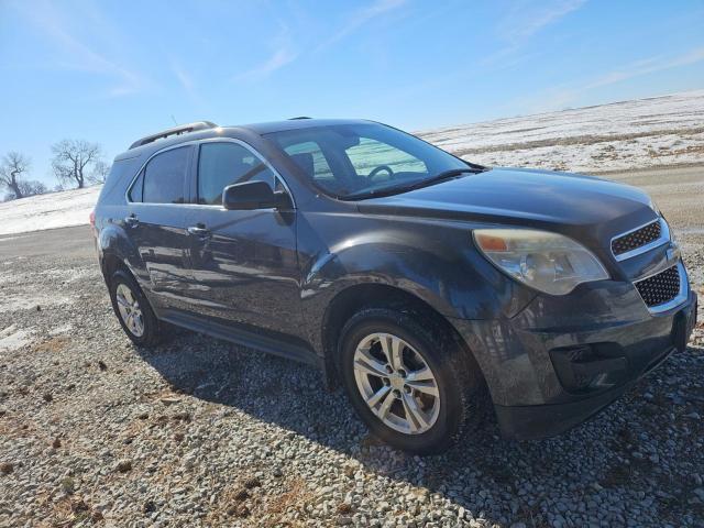
<svg viewBox="0 0 704 528"><path fill-rule="evenodd" d="M704 62L704 46L695 47L675 56L656 55L626 64L613 72L586 80L579 85L563 85L540 96L538 101L528 106L529 111L547 112L561 110L579 102L579 99L596 88L612 86L649 74L657 74L669 69L690 66Z"/></svg>

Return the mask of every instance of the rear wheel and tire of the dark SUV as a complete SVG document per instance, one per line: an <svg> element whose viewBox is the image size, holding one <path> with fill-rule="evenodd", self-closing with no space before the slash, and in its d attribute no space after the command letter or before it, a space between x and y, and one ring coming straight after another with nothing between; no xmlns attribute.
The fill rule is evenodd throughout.
<svg viewBox="0 0 704 528"><path fill-rule="evenodd" d="M158 320L132 275L122 270L112 274L110 277L110 300L122 330L134 344L153 346L162 340ZM132 309L127 308L127 311L132 312L134 317L125 317L124 310L120 309L120 305L123 305L124 300L132 305Z"/></svg>

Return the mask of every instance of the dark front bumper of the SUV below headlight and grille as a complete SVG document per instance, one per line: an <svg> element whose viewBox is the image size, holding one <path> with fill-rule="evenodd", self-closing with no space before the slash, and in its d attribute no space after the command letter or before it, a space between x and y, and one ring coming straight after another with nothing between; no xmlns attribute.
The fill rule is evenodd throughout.
<svg viewBox="0 0 704 528"><path fill-rule="evenodd" d="M684 348L696 294L652 314L632 285L603 282L539 296L512 319L453 320L486 378L508 438L563 432L596 415Z"/></svg>

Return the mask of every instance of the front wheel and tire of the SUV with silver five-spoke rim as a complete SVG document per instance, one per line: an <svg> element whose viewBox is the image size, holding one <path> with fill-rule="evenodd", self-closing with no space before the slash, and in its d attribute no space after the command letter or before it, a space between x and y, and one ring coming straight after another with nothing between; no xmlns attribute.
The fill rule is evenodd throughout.
<svg viewBox="0 0 704 528"><path fill-rule="evenodd" d="M340 334L339 367L352 406L374 436L403 451L436 454L481 429L488 393L474 359L447 331L420 321L386 308L358 312ZM391 361L399 355L394 369ZM387 380L377 376L384 359Z"/></svg>

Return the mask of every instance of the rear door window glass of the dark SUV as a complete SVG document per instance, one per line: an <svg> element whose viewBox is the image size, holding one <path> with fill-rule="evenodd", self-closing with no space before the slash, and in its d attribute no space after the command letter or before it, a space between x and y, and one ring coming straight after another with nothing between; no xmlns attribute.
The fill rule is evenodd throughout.
<svg viewBox="0 0 704 528"><path fill-rule="evenodd" d="M157 154L146 164L142 201L145 204L184 204L184 183L188 167L188 146ZM139 183L139 179L138 182Z"/></svg>

